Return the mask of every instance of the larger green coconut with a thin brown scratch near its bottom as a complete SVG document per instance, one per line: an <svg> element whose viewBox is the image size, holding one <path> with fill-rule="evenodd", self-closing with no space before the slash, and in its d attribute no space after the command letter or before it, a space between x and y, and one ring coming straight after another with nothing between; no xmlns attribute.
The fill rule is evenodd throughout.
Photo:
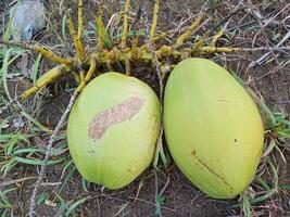
<svg viewBox="0 0 290 217"><path fill-rule="evenodd" d="M175 163L209 196L235 197L252 181L263 124L251 97L225 68L204 59L180 62L165 88L164 128Z"/></svg>

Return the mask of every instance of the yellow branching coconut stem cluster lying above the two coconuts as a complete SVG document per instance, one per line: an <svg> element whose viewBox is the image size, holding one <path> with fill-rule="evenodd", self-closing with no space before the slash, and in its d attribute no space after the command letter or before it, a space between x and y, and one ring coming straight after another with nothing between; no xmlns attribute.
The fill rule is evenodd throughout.
<svg viewBox="0 0 290 217"><path fill-rule="evenodd" d="M0 43L4 43L8 46L17 46L23 47L25 49L33 50L36 53L41 53L47 59L51 60L54 63L58 63L56 67L48 71L43 76L41 76L36 84L35 87L31 87L27 91L22 94L22 99L25 100L29 95L34 94L36 91L47 86L48 84L59 79L61 76L73 73L76 80L78 81L78 91L80 91L91 79L93 73L98 71L98 67L108 67L111 71L112 65L115 63L124 63L126 65L126 74L130 74L130 63L131 62L143 62L143 63L152 63L155 61L161 63L161 68L173 68L173 65L168 65L167 61L172 60L172 62L179 62L180 60L185 60L190 56L201 55L206 53L215 53L215 52L240 52L240 51L261 51L268 50L269 48L257 48L257 49L248 49L248 48L228 48L228 47L216 47L216 42L218 38L220 38L226 29L226 26L218 31L215 36L212 37L212 41L210 46L205 44L205 39L201 39L191 46L186 46L185 42L194 34L200 26L202 25L202 18L204 14L206 14L209 5L205 3L196 20L191 25L185 28L185 31L177 38L172 39L174 42L172 44L162 44L154 48L154 52L150 49L150 44L165 37L169 37L171 31L155 34L155 29L157 26L157 17L160 11L160 1L154 1L154 11L152 17L152 24L149 28L149 41L146 41L141 46L138 44L138 35L134 33L134 38L131 42L131 47L128 47L128 16L130 10L130 1L126 0L125 2L125 11L124 11L124 26L123 34L119 44L105 44L105 42L110 41L106 29L104 28L103 18L102 18L102 9L100 8L100 12L98 16L96 16L96 23L98 26L98 49L92 52L88 52L85 49L85 46L81 41L81 36L84 33L84 14L83 14L83 0L78 0L78 25L77 29L75 29L75 25L73 23L72 17L67 14L67 26L73 38L73 43L76 50L76 54L74 58L62 58L52 51L48 50L42 46L30 46L24 42L7 42L0 41ZM226 24L228 25L228 24ZM135 24L133 24L135 26ZM133 29L136 31L136 29ZM206 39L207 40L207 39ZM281 49L281 48L279 48ZM290 50L290 48L286 47L286 50ZM155 56L153 56L153 54ZM166 61L166 63L164 63ZM153 64L151 64L152 66ZM86 72L87 71L87 72ZM166 71L167 72L167 71ZM163 72L165 74L165 72Z"/></svg>

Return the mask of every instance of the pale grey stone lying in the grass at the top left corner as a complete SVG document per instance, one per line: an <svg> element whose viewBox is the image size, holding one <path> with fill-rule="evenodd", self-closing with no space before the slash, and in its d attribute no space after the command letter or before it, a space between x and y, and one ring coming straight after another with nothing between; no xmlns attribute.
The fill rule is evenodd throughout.
<svg viewBox="0 0 290 217"><path fill-rule="evenodd" d="M29 41L46 27L46 7L39 0L18 1L10 10L11 33L14 40Z"/></svg>

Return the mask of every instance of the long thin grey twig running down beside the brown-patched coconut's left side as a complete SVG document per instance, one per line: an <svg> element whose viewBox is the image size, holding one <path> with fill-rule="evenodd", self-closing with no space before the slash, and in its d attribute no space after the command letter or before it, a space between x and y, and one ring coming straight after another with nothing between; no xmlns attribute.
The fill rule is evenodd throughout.
<svg viewBox="0 0 290 217"><path fill-rule="evenodd" d="M34 188L34 191L33 191L33 194L31 194L31 197L30 197L30 206L29 206L29 213L28 213L29 217L33 217L33 215L35 213L37 191L38 191L38 189L39 189L39 187L41 184L42 177L43 177L43 175L46 173L47 163L49 161L49 157L50 157L50 154L51 154L51 151L52 151L53 141L54 141L58 132L60 131L60 129L63 127L63 124L64 124L64 122L66 119L66 116L71 112L72 106L73 106L78 93L79 93L79 91L77 91L77 90L74 91L74 94L72 95L66 110L64 111L60 122L58 123L58 125L54 128L51 137L49 138L49 142L48 142L48 146L47 146L47 151L46 151L46 156L45 156L45 158L42 161L42 165L41 165L41 168L40 168L40 171L39 171L39 176L38 176L38 179L37 179L37 181L35 183L35 188Z"/></svg>

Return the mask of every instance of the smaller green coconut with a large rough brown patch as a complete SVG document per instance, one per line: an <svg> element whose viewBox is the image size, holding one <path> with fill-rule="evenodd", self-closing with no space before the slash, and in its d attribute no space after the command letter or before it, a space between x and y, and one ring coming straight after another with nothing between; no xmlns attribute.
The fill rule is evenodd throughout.
<svg viewBox="0 0 290 217"><path fill-rule="evenodd" d="M161 106L153 90L118 73L94 78L68 119L70 153L80 175L109 189L130 183L151 163Z"/></svg>

